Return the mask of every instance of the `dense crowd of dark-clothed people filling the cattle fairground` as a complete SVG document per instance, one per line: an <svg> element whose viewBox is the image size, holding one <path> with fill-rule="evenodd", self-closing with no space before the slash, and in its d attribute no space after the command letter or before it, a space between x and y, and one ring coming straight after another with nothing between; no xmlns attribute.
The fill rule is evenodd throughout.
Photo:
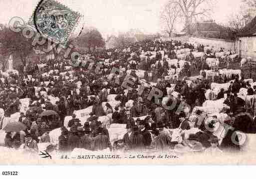
<svg viewBox="0 0 256 179"><path fill-rule="evenodd" d="M202 106L206 101L205 91L210 89L211 82L207 79L197 79L194 86L191 87L186 80L176 79L170 82L163 78L170 66L160 51L164 51L164 55L167 55L168 58L175 59L177 58L175 49L181 45L192 51L200 52L204 49L203 45L195 47L193 44L176 40L148 40L131 44L125 50L117 48L90 53L90 61L95 62L92 68L88 68L89 63L72 67L67 59L59 56L41 61L42 64L46 64L43 68L38 68L38 64L33 62L29 62L26 66L20 64L17 69L18 74L2 75L0 108L3 109L4 116L7 118L11 114L20 112L19 122L26 126L26 130L16 132L14 135L11 132L6 133L5 146L18 148L24 144L24 148L38 151L37 144L50 142L49 132L61 128L58 149L63 152L72 151L75 148L91 151L107 148L112 150L117 146L124 146L126 150L152 148L163 150L174 148L177 144L172 142L170 134L165 129L190 130L194 127L203 131L192 135L192 138L200 141L203 147L218 146L216 145L218 138L204 127L204 120L207 117L202 111L197 111L195 126L192 127L188 122L188 113L191 113L195 106ZM150 53L148 53L148 58L142 60L140 59L142 51L157 52L156 57L150 58ZM95 73L96 64L102 59L109 59L109 62L103 63L100 73ZM197 64L198 69L201 69L201 66L204 69L209 68L204 61L196 59L192 53L186 57L186 60ZM194 60L197 60L197 63ZM130 61L136 63L129 63ZM161 63L156 63L157 61L161 61ZM153 88L152 85L145 87L144 91L139 94L138 87L142 84L135 73L131 74L136 78L134 85L130 86L132 90L128 90L126 93L126 89L121 85L126 75L109 78L112 68L125 68L125 74L129 69L145 70L147 73L145 80L155 83L155 87L163 92L163 97L170 95L167 87L171 87L171 83L176 84L174 91L179 95L176 98L175 108L165 109L161 103L155 103L154 97L149 100L148 96ZM184 76L191 76L192 68L185 66L184 69ZM234 124L236 114L245 112L244 101L238 100L236 95L240 88L246 87L248 93L256 94L255 89L253 90L249 86L250 84L238 80L236 76L234 79L235 82L230 86L228 98L225 100L225 104L230 106L230 110L226 112L228 114L226 121L229 124ZM108 92L105 93L104 89ZM109 104L107 95L110 94L116 95L115 100L120 101L119 105L111 106ZM52 102L52 97L58 98L58 100ZM19 106L20 99L23 98L29 98L30 103L29 109L21 112ZM160 99L162 100L162 98ZM221 98L224 98L223 90L218 94L218 99ZM125 105L129 100L133 100L131 107ZM103 102L107 102L106 110L103 109ZM167 105L172 103L172 99L167 101ZM191 106L189 112L185 110L187 104ZM81 123L73 112L90 106L92 106L90 116L85 123ZM47 110L55 111L56 114L40 116L43 111ZM108 114L112 114L111 124L125 124L127 129L123 140L116 141L114 145L110 143L108 129L98 121L99 117ZM64 127L66 116L72 116L68 122L68 129ZM147 117L141 120L140 118L143 116Z"/></svg>

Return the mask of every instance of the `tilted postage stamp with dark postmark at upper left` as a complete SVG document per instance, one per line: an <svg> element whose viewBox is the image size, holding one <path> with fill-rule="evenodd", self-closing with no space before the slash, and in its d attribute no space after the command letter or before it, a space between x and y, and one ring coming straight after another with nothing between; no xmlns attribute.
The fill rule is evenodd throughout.
<svg viewBox="0 0 256 179"><path fill-rule="evenodd" d="M65 44L81 15L55 0L40 0L28 24L56 43Z"/></svg>

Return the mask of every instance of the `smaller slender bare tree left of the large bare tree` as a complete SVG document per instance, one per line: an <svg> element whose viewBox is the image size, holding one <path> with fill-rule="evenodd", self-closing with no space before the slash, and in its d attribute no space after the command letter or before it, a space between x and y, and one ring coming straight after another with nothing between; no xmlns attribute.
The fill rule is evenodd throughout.
<svg viewBox="0 0 256 179"><path fill-rule="evenodd" d="M177 19L181 16L181 9L178 4L168 2L160 14L161 23L164 25L164 31L171 37L175 30Z"/></svg>

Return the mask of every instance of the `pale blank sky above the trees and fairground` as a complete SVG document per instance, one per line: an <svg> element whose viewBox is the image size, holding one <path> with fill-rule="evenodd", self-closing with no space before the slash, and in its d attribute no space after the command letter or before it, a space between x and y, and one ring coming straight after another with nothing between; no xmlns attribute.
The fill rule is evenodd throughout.
<svg viewBox="0 0 256 179"><path fill-rule="evenodd" d="M160 10L167 0L58 0L84 17L84 25L99 29L104 37L138 28L144 33L161 31ZM216 0L212 18L227 24L242 0ZM0 23L13 16L28 20L39 0L0 0Z"/></svg>

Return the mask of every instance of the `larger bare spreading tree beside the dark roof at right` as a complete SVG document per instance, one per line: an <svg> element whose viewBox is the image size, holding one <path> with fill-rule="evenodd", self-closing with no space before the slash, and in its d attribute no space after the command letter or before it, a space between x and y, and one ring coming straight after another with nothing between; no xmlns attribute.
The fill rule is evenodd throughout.
<svg viewBox="0 0 256 179"><path fill-rule="evenodd" d="M193 20L199 15L209 15L213 7L213 0L170 0L170 2L179 5L189 35L192 34Z"/></svg>

